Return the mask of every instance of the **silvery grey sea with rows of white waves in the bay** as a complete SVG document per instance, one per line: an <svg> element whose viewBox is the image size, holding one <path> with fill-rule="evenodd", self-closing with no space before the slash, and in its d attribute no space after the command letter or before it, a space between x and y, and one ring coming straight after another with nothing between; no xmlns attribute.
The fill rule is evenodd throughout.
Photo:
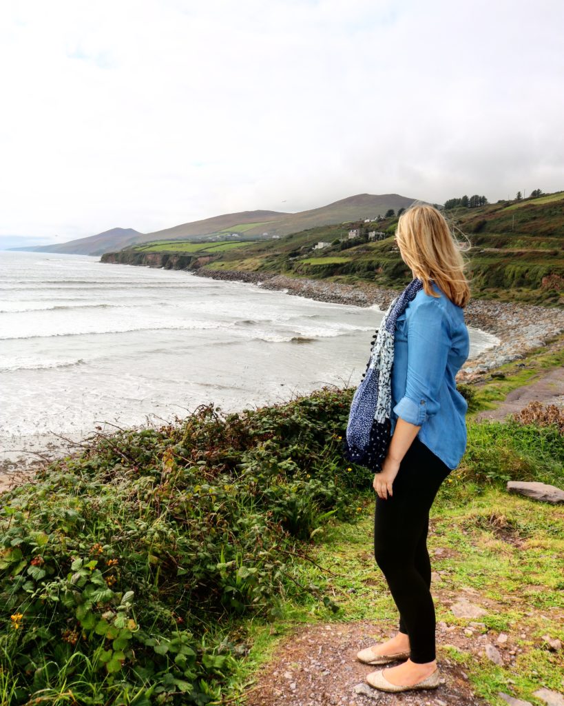
<svg viewBox="0 0 564 706"><path fill-rule="evenodd" d="M157 425L357 385L384 312L243 282L0 253L0 461L95 426ZM496 337L470 330L470 357Z"/></svg>

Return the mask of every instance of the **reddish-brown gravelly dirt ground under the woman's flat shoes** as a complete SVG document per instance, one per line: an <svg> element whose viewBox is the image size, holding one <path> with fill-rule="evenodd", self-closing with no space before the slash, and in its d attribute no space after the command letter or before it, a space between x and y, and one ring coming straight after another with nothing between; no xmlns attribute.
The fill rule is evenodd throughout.
<svg viewBox="0 0 564 706"><path fill-rule="evenodd" d="M448 556L452 550L438 551L441 556ZM508 633L488 629L479 616L501 614L507 606L483 597L472 587L462 586L458 590L441 587L444 573L433 573L431 591L435 605L447 609L453 617L464 618L461 621L464 624L447 625L437 618L436 660L441 672L438 688L387 693L364 682L371 671L400 664L370 666L356 659L363 647L395 635L395 626L384 626L377 621L314 623L296 626L283 638L276 646L274 658L257 669L256 683L234 702L242 706L367 706L376 701L410 706L485 705L488 702L474 693L460 656L465 655L465 662L470 662L472 669L474 665L479 669L480 663L489 660L508 671L517 669L522 653L541 645L542 640L536 635L539 621L547 625L558 622L564 619L564 612L548 609L544 615L529 611L527 616L533 616L531 621L516 625ZM455 658L452 648L456 650ZM543 688L542 683L539 688ZM512 691L511 683L503 688L505 696L511 697Z"/></svg>

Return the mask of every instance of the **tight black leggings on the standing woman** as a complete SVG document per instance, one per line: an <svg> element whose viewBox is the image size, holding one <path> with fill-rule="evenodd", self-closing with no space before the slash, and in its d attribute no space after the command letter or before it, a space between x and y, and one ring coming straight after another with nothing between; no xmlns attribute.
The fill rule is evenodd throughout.
<svg viewBox="0 0 564 706"><path fill-rule="evenodd" d="M410 659L436 659L435 606L427 551L429 510L450 468L416 436L393 481L393 496L376 494L374 558L400 613L399 630L410 638Z"/></svg>

